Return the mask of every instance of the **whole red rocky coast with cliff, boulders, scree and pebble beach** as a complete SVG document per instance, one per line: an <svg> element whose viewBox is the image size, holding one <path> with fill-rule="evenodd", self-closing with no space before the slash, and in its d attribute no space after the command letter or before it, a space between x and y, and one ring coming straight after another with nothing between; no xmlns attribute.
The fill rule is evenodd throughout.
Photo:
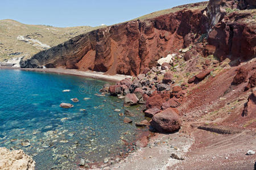
<svg viewBox="0 0 256 170"><path fill-rule="evenodd" d="M204 8L189 10L200 5ZM59 73L65 74L76 69L80 75L85 70L102 71L104 75L90 76L116 82L106 84L102 95L123 99L124 107L141 105L147 117L141 122L132 122L129 117L134 114L129 111L119 114L126 124L151 132L131 145L136 151L121 154L124 160L106 159L100 165L81 160L79 168L139 169L142 162L144 167L158 162L154 168L252 169L255 6L254 1L243 0L183 6L154 19L75 37L20 61L20 66L31 71L44 66L56 73L61 68L65 71ZM129 76L108 77L117 73ZM247 154L249 150L254 154Z"/></svg>

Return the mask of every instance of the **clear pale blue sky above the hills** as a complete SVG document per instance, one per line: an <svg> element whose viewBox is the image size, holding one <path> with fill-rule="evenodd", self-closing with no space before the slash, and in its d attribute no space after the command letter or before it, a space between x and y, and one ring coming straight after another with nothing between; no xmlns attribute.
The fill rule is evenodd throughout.
<svg viewBox="0 0 256 170"><path fill-rule="evenodd" d="M203 0L201 0L203 1ZM0 0L0 19L55 27L112 25L200 0Z"/></svg>

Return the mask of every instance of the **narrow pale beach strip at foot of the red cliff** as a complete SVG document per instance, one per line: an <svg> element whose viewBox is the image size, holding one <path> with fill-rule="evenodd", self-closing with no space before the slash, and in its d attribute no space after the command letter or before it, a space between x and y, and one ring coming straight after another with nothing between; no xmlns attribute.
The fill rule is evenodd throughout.
<svg viewBox="0 0 256 170"><path fill-rule="evenodd" d="M131 77L130 75L122 75L122 74L105 75L104 73L97 72L97 71L80 71L76 69L62 69L62 68L30 69L30 68L0 66L0 70L1 69L35 71L35 72L41 72L41 73L57 73L57 74L64 74L64 75L76 75L76 76L83 76L85 78L104 80L108 82L119 82L120 80Z"/></svg>

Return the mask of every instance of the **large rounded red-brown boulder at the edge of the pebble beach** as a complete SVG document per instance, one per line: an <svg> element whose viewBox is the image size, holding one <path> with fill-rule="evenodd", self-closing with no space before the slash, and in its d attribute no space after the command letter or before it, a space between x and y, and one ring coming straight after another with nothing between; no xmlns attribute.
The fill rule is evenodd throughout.
<svg viewBox="0 0 256 170"><path fill-rule="evenodd" d="M181 120L174 109L168 108L158 114L155 114L150 125L157 131L171 133L180 129Z"/></svg>

